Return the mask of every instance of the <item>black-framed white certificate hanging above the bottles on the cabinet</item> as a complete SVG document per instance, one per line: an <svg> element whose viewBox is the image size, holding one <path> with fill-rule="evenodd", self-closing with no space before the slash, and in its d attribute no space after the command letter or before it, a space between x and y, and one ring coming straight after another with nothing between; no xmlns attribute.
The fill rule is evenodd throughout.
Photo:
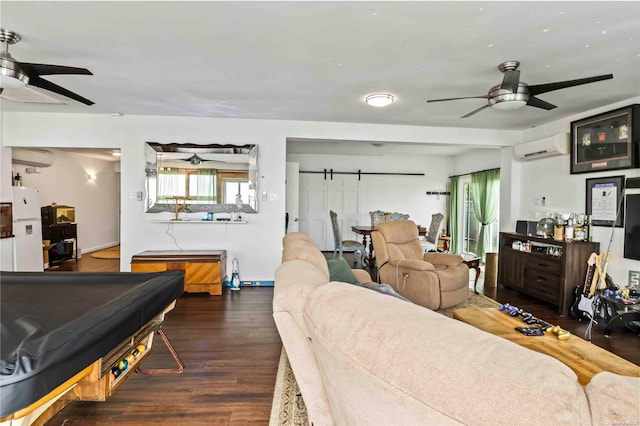
<svg viewBox="0 0 640 426"><path fill-rule="evenodd" d="M624 226L624 175L587 179L587 205L593 226Z"/></svg>

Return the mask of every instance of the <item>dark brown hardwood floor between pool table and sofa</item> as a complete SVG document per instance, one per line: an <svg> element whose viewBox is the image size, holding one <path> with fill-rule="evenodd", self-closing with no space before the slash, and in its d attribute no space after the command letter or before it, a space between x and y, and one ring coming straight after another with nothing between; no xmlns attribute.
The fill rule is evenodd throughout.
<svg viewBox="0 0 640 426"><path fill-rule="evenodd" d="M349 256L345 255L347 260ZM118 270L117 259L84 255L77 263L65 262L50 272ZM584 336L587 324L559 316L556 307L513 290L484 289L482 283L481 275L479 292ZM106 402L74 402L47 425L268 424L282 348L271 316L272 298L271 287L225 289L221 297L185 294L164 325L185 363L182 374L134 374ZM603 324L594 327L593 344L640 365L637 334L620 329L607 338L603 330ZM157 340L143 367L173 366L168 350Z"/></svg>

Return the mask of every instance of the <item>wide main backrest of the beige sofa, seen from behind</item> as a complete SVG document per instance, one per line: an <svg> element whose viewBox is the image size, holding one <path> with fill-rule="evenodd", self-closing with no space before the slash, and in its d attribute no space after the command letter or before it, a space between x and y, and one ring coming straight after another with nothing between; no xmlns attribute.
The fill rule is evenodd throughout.
<svg viewBox="0 0 640 426"><path fill-rule="evenodd" d="M304 320L336 424L590 424L569 367L421 306L332 282Z"/></svg>

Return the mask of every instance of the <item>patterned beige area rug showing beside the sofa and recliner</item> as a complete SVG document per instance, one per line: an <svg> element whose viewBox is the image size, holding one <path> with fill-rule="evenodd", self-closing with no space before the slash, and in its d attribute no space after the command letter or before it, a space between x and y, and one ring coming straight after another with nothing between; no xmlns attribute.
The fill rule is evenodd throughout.
<svg viewBox="0 0 640 426"><path fill-rule="evenodd" d="M497 308L500 303L484 296L469 291L469 297L465 303L452 306L446 309L437 310L439 314L453 317L453 311L461 308ZM276 376L276 386L273 392L273 403L271 406L271 418L269 426L301 426L308 425L307 409L300 394L300 389L293 375L287 353L282 348L280 354L280 364Z"/></svg>

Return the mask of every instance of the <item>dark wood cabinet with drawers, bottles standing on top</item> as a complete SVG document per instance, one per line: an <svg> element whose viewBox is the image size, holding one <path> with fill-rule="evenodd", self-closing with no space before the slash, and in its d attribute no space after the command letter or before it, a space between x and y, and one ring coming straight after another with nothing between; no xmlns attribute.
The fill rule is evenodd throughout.
<svg viewBox="0 0 640 426"><path fill-rule="evenodd" d="M600 244L594 242L501 232L498 284L554 304L566 316L575 288L584 283L589 255L599 250Z"/></svg>

